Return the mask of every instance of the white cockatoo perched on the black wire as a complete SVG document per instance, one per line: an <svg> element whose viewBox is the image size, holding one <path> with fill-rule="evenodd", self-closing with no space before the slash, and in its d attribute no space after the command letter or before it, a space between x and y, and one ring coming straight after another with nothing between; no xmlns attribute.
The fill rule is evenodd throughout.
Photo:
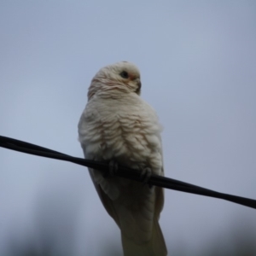
<svg viewBox="0 0 256 256"><path fill-rule="evenodd" d="M137 169L144 177L164 175L161 126L140 91L140 73L131 62L102 67L90 84L79 141L86 159ZM90 169L103 206L119 226L125 256L166 255L158 222L163 189L111 173Z"/></svg>

